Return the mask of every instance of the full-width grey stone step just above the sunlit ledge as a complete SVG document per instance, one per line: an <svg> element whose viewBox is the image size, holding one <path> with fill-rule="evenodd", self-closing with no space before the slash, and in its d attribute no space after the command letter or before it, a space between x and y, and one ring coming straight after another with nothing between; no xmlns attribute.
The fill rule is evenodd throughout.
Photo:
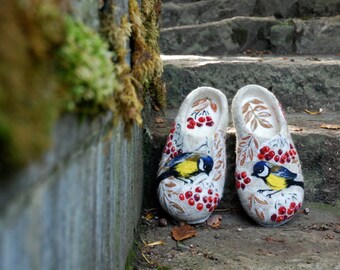
<svg viewBox="0 0 340 270"><path fill-rule="evenodd" d="M340 52L340 16L308 20L234 17L163 28L160 48L164 54L230 55L247 50L336 54Z"/></svg>

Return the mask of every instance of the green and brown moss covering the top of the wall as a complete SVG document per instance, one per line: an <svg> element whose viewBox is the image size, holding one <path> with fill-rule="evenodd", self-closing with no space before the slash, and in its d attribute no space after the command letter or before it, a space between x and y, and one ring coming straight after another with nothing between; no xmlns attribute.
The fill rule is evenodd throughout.
<svg viewBox="0 0 340 270"><path fill-rule="evenodd" d="M0 175L39 158L61 112L111 110L128 134L142 123L142 102L164 105L159 55L160 0L129 1L116 23L114 7L99 34L61 14L58 1L5 0L0 9ZM23 31L22 29L25 29ZM132 68L126 62L132 41Z"/></svg>

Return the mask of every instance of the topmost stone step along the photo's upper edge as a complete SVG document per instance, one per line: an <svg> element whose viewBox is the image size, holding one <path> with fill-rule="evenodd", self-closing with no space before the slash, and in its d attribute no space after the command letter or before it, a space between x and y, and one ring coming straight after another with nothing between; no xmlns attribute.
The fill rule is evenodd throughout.
<svg viewBox="0 0 340 270"><path fill-rule="evenodd" d="M340 0L177 0L163 2L162 27L194 25L236 16L295 18L340 14Z"/></svg>

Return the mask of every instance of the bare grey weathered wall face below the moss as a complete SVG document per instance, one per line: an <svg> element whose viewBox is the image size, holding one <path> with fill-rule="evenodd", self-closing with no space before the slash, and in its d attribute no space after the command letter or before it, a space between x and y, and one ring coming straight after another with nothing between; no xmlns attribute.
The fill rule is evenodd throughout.
<svg viewBox="0 0 340 270"><path fill-rule="evenodd" d="M143 135L66 116L41 163L2 181L1 269L124 269L142 203Z"/></svg>

